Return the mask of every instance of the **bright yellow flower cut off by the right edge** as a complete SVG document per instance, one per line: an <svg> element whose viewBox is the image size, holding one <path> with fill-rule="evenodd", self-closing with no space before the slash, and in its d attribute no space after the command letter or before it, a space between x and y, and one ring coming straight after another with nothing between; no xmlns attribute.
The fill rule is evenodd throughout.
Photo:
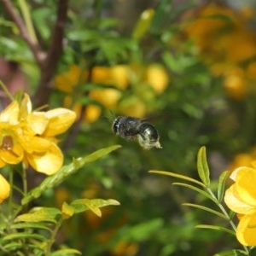
<svg viewBox="0 0 256 256"><path fill-rule="evenodd" d="M238 213L236 237L245 246L256 245L256 161L252 165L239 167L231 173L230 178L235 183L224 196L226 205Z"/></svg>

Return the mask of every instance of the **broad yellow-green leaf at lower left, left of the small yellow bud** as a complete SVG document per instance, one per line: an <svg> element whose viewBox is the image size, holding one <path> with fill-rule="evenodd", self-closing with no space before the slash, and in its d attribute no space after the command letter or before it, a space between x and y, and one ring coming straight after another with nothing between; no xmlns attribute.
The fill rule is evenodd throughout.
<svg viewBox="0 0 256 256"><path fill-rule="evenodd" d="M34 207L29 213L24 213L15 218L15 222L50 222L56 223L56 218L61 216L61 211L53 207Z"/></svg>

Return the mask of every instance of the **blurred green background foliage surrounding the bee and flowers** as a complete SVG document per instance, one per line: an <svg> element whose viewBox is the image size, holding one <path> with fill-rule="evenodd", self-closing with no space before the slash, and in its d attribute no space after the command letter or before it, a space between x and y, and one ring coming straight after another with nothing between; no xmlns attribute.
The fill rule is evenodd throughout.
<svg viewBox="0 0 256 256"><path fill-rule="evenodd" d="M145 3L139 1L141 16L132 13L137 4L128 2L69 3L63 52L55 77L67 72L72 65L89 74L87 80L80 79L71 92L53 88L49 102L45 103L50 107L65 106L65 98L69 96L70 108L79 103L82 113L86 113L89 104L101 109L101 117L95 122L83 122L81 118L73 131L63 137L61 143L67 162L116 143L122 148L45 193L40 203L48 207L61 205L67 198L81 196L79 191L83 191L84 197L111 197L121 203L121 207L104 208L102 218L86 213L67 222L58 242L78 248L83 255L212 255L221 249L233 248L237 244L229 236L194 228L196 224L216 224L221 220L181 206L184 201L205 199L186 189L172 187L172 180L148 170L172 171L197 179L196 154L201 145L207 145L211 176L217 179L235 154L249 152L255 143L255 95L248 93L239 101L231 98L224 88L223 77L212 73L215 62L207 59L207 50L202 55L200 47L184 32L183 26L193 22L200 12L193 1L183 4L172 0L148 1L146 9L143 9ZM38 41L43 49L48 49L56 3L32 0L26 4ZM20 8L18 2L15 7ZM19 63L26 73L28 90L33 94L40 79L37 62L29 45L20 38L15 22L2 5L0 9L3 27L0 55L6 61ZM194 16L186 20L185 15L193 11ZM125 16L120 17L124 13ZM218 17L212 16L212 20ZM255 35L255 31L252 33ZM211 44L207 45L209 51ZM247 61L253 61L255 56ZM128 87L118 89L121 97L110 109L113 116L102 102L90 98L92 90L116 89L114 84L96 83L91 79L93 68L135 64L147 68L152 63L160 64L168 73L168 86L162 93L143 86L141 80L131 74ZM243 67L245 61L233 64ZM136 142L113 134L113 118L125 114L134 100L143 104L144 116L152 117L150 122L160 133L163 149L143 150Z"/></svg>

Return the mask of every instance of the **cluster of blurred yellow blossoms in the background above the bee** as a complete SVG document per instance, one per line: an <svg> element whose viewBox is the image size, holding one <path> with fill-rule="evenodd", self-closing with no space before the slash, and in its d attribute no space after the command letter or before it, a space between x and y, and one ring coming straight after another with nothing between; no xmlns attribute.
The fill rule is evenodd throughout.
<svg viewBox="0 0 256 256"><path fill-rule="evenodd" d="M101 88L90 90L89 97L91 100L100 102L105 108L114 108L119 104L122 98L122 91L131 84L136 84L137 96L125 97L119 109L127 112L136 106L136 111L133 115L138 117L143 116L146 112L146 107L141 99L141 95L147 95L146 90L151 88L155 95L160 95L166 90L169 83L169 76L164 67L157 64L151 64L148 67L139 65L116 65L113 67L94 67L90 74L90 81L88 81L88 71L82 70L76 65L72 65L66 73L61 73L55 78L55 87L67 94L75 94L79 90L80 84L94 83L102 85L112 85L115 88ZM146 85L146 86L143 86ZM85 85L86 86L86 85ZM85 88L86 89L86 88ZM141 92L142 90L142 92ZM82 90L83 91L83 90ZM72 102L73 96L67 96L64 104L67 106ZM80 113L81 105L75 103L73 109L76 113ZM133 109L134 110L134 109ZM86 107L84 120L93 122L101 114L101 108L90 104Z"/></svg>

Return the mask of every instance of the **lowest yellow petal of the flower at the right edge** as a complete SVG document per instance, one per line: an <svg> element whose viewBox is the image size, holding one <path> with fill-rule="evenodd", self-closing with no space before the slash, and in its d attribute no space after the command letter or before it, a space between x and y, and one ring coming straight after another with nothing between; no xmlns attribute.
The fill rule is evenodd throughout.
<svg viewBox="0 0 256 256"><path fill-rule="evenodd" d="M256 214L245 215L241 218L237 230L236 238L244 246L256 245Z"/></svg>

